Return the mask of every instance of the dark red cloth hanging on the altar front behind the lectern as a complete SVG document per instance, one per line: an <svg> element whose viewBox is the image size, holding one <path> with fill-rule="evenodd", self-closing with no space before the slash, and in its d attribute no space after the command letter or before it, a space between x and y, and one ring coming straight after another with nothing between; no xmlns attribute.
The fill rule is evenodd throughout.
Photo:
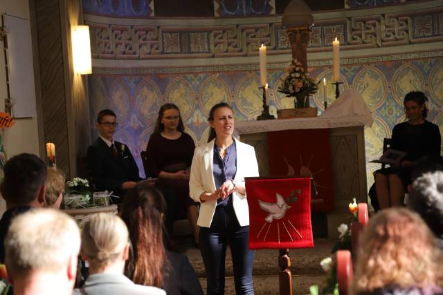
<svg viewBox="0 0 443 295"><path fill-rule="evenodd" d="M316 192L313 211L333 211L334 184L329 129L297 129L268 132L271 176L311 177Z"/></svg>

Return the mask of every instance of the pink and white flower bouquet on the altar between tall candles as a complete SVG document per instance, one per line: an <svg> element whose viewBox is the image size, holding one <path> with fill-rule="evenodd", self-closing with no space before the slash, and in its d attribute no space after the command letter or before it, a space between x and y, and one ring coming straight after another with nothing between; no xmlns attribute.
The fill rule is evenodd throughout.
<svg viewBox="0 0 443 295"><path fill-rule="evenodd" d="M320 82L314 82L307 69L296 59L291 61L286 71L288 76L282 86L278 87L278 92L286 94L287 97L295 97L295 108L309 108L309 95L317 92Z"/></svg>

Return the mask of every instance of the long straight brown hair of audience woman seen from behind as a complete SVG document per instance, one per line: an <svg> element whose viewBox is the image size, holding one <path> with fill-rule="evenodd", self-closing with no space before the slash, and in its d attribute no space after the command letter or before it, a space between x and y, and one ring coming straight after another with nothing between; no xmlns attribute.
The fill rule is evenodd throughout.
<svg viewBox="0 0 443 295"><path fill-rule="evenodd" d="M138 184L123 199L120 213L132 242L125 275L136 284L162 287L166 262L162 216L165 211L165 199L150 184Z"/></svg>

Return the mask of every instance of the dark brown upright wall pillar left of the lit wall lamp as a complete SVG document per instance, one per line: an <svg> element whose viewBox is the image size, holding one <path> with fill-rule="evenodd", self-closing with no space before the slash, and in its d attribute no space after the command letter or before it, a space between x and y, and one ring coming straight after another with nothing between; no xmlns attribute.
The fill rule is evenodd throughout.
<svg viewBox="0 0 443 295"><path fill-rule="evenodd" d="M66 117L66 88L60 2L34 0L39 53L39 87L42 95L44 142L55 143L57 167L70 171ZM43 147L42 147L43 148ZM45 149L44 149L45 150Z"/></svg>

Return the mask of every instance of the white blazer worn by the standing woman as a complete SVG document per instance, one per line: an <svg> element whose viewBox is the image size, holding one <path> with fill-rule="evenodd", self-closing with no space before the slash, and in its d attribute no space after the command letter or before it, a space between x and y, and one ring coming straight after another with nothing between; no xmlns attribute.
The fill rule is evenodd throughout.
<svg viewBox="0 0 443 295"><path fill-rule="evenodd" d="M235 181L237 183L244 182L245 177L258 176L257 158L255 158L255 150L253 146L244 144L235 139L237 150L237 172L235 173ZM204 191L213 193L216 190L213 173L213 155L214 142L212 140L207 144L197 146L192 158L191 175L189 179L190 196L196 202L200 202L199 219L197 225L200 227L210 227L217 207L217 200L201 202L200 195ZM233 206L235 216L239 225L244 227L249 225L249 209L246 195L233 192Z"/></svg>

